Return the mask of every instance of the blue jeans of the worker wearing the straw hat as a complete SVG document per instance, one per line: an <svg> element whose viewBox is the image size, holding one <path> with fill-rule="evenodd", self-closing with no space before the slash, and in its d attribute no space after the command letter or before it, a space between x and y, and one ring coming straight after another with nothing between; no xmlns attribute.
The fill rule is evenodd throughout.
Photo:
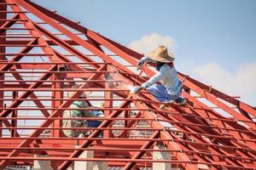
<svg viewBox="0 0 256 170"><path fill-rule="evenodd" d="M177 95L168 94L166 88L161 84L153 84L146 89L150 94L154 95L155 99L159 100L160 102L174 102L181 98L181 93L178 93Z"/></svg>

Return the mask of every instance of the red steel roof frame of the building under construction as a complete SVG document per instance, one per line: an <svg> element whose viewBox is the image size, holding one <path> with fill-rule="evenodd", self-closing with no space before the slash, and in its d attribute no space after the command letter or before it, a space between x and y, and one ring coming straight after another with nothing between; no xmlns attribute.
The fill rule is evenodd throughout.
<svg viewBox="0 0 256 170"><path fill-rule="evenodd" d="M188 104L160 110L146 91L135 95L125 88L154 75L148 65L137 76L142 54L36 3L0 2L0 168L34 160L49 160L54 169L73 161L108 161L125 170L153 162L183 169L256 168L252 106L179 73ZM73 89L68 82L81 86ZM100 127L87 128L93 130L88 138L67 138L62 112L83 91L93 92L84 99L90 105L104 102L105 117ZM154 160L155 144L172 158ZM94 150L95 157L79 158L84 150Z"/></svg>

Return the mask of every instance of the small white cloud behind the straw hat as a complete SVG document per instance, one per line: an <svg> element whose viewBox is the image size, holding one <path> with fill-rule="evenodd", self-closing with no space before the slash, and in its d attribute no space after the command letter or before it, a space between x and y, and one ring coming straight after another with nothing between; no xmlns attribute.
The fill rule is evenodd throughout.
<svg viewBox="0 0 256 170"><path fill-rule="evenodd" d="M160 45L165 45L172 52L177 49L176 42L172 37L161 36L154 32L131 42L128 48L134 49L141 54L148 54Z"/></svg>

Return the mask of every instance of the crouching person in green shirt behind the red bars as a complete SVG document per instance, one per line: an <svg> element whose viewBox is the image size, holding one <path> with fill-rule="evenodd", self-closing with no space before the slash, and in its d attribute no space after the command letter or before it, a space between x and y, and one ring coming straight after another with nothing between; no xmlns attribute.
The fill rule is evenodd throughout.
<svg viewBox="0 0 256 170"><path fill-rule="evenodd" d="M79 88L79 85L74 85L73 88ZM88 103L82 99L86 99L86 94L81 94L79 97L81 100L76 100L73 102L69 108L73 110L67 110L63 112L63 118L85 118L85 117L104 117L102 111L86 111L86 110L76 110L81 108L89 108ZM65 120L62 121L62 127L98 127L101 124L100 121L90 121L90 120ZM65 129L63 133L67 137L84 137L90 134L88 130L73 130L73 129ZM100 136L101 137L101 136Z"/></svg>

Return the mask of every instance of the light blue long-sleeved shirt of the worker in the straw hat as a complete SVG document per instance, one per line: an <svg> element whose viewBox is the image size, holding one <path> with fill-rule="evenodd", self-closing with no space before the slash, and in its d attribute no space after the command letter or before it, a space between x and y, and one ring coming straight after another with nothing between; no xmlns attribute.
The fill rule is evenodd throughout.
<svg viewBox="0 0 256 170"><path fill-rule="evenodd" d="M143 62L156 63L154 59L143 57ZM174 66L162 65L154 77L151 77L148 82L142 84L143 88L148 88L155 82L160 82L167 90L168 94L177 95L180 93L182 83L177 77L177 71Z"/></svg>

